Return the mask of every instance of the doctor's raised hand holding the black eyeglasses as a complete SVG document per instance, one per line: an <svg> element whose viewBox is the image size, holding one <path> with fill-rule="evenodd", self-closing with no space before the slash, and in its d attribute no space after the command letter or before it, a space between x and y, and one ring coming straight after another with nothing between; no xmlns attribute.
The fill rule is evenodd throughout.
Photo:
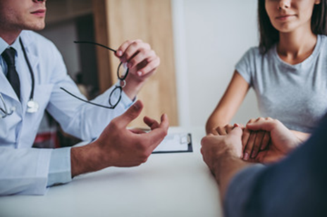
<svg viewBox="0 0 327 217"><path fill-rule="evenodd" d="M122 63L127 63L129 72L123 91L130 99L134 99L145 81L156 72L160 58L151 46L140 39L125 41L116 51Z"/></svg>

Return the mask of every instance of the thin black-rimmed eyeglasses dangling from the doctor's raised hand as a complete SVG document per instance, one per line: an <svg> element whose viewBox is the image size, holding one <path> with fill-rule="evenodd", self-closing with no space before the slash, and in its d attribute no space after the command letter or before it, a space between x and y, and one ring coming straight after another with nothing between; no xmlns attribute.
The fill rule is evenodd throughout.
<svg viewBox="0 0 327 217"><path fill-rule="evenodd" d="M74 41L74 43L76 44L95 44L97 46L101 46L103 48L107 48L109 49L110 51L113 51L116 53L116 50L113 50L113 48L109 48L107 46L104 46L102 44L98 44L98 43L95 43L95 42L92 42L92 41ZM119 63L118 67L117 67L117 77L119 79L120 82L118 82L119 84L115 86L115 88L113 88L113 90L111 91L110 95L109 95L109 105L110 106L106 106L106 105L99 105L97 103L92 103L88 100L84 100L78 96L75 96L73 93L70 93L69 91L67 91L65 88L61 87L61 89L63 91L66 91L66 93L70 94L70 96L73 96L75 98L78 98L79 100L82 100L83 102L85 103L90 103L92 105L97 105L99 107L104 107L104 108L107 108L107 109L114 109L118 103L121 101L121 93L123 91L123 87L126 85L126 77L128 75L128 67L123 64L122 62ZM121 84L123 82L123 84Z"/></svg>

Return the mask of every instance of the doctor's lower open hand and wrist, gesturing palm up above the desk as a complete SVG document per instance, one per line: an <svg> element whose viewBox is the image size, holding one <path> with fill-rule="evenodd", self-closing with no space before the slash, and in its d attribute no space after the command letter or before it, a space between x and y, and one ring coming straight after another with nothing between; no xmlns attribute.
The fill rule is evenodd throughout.
<svg viewBox="0 0 327 217"><path fill-rule="evenodd" d="M113 119L93 143L73 147L70 152L72 177L109 166L139 166L146 162L167 135L169 123L167 115L163 114L160 123L144 117L145 124L152 129L149 133L126 129L142 108L142 102L137 100L125 113Z"/></svg>

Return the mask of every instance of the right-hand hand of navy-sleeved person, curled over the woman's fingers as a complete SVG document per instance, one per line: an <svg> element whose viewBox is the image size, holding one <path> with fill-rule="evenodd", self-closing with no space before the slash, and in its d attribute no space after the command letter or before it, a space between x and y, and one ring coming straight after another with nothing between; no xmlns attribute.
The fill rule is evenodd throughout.
<svg viewBox="0 0 327 217"><path fill-rule="evenodd" d="M260 119L246 126L251 131L266 131L271 140L265 150L261 150L252 162L273 163L287 156L298 147L302 140L277 119Z"/></svg>

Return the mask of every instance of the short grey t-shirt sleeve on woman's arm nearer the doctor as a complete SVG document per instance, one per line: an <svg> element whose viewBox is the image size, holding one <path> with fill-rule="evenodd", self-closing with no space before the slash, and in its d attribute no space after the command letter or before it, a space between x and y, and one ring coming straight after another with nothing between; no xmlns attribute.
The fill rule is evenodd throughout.
<svg viewBox="0 0 327 217"><path fill-rule="evenodd" d="M254 73L254 60L257 48L250 48L235 65L235 70L252 86L252 77Z"/></svg>

